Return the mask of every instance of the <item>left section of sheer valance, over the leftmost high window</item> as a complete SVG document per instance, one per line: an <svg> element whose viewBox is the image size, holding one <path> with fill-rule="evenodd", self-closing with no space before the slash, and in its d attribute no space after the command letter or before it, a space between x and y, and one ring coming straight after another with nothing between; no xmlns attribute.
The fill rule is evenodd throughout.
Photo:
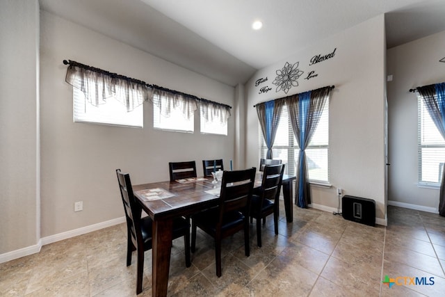
<svg viewBox="0 0 445 297"><path fill-rule="evenodd" d="M152 89L142 82L130 81L109 74L70 65L67 67L65 81L85 94L93 106L106 103L106 99L118 99L127 111L132 111L150 97Z"/></svg>

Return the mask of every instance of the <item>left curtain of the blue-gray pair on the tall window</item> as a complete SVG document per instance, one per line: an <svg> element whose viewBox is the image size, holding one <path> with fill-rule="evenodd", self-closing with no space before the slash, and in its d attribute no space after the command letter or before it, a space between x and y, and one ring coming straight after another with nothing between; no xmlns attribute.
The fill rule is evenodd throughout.
<svg viewBox="0 0 445 297"><path fill-rule="evenodd" d="M259 125L267 145L266 159L273 159L272 146L277 134L284 99L276 99L257 104Z"/></svg>

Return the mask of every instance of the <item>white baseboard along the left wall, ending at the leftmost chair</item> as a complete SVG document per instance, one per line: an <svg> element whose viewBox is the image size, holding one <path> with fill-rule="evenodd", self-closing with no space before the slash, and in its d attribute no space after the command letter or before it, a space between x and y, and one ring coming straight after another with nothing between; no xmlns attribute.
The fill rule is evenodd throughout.
<svg viewBox="0 0 445 297"><path fill-rule="evenodd" d="M113 218L113 220L106 220L105 222L102 222L102 223L97 223L94 225L81 227L79 229L70 230L67 232L62 232L62 233L54 234L51 236L46 236L46 237L43 237L42 239L40 239L38 241L38 243L35 244L34 246L28 246L26 248L20 248L19 250L13 250L11 252L6 252L4 254L1 254L0 255L0 263L8 262L13 259L18 259L20 257L24 257L24 256L35 254L36 252L40 252L40 248L42 248L42 246L44 246L45 244L54 243L56 241L61 241L64 239L69 239L74 236L79 236L79 235L86 234L89 232L101 230L106 227L118 225L120 223L125 223L124 216L122 216L121 218Z"/></svg>

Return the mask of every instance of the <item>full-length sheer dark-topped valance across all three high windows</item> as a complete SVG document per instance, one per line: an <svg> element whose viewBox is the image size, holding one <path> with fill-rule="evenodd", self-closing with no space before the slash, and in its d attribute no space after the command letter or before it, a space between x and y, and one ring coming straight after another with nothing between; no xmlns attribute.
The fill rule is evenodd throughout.
<svg viewBox="0 0 445 297"><path fill-rule="evenodd" d="M125 77L76 61L64 60L63 63L69 65L65 81L74 88L81 90L85 94L86 100L94 106L105 103L108 97L115 97L127 106L127 111L132 111L149 99L161 108L161 114L163 115L169 115L173 108L179 106L184 115L189 118L200 104L200 106L204 106L206 111L209 111L209 113L206 113L207 118L209 118L210 113L218 113L227 122L227 118L230 116L232 107L226 104L145 83L145 81ZM161 98L163 99L161 100Z"/></svg>

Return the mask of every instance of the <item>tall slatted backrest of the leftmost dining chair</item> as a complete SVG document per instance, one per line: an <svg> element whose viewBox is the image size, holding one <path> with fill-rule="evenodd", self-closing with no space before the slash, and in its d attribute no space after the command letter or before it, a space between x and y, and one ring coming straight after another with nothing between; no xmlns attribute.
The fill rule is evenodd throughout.
<svg viewBox="0 0 445 297"><path fill-rule="evenodd" d="M140 228L140 215L142 207L140 207L133 196L133 188L131 187L130 175L122 173L120 169L116 169L118 175L118 183L122 203L124 204L125 217L127 218L127 230L131 234L131 241L136 248L142 248L143 239Z"/></svg>

